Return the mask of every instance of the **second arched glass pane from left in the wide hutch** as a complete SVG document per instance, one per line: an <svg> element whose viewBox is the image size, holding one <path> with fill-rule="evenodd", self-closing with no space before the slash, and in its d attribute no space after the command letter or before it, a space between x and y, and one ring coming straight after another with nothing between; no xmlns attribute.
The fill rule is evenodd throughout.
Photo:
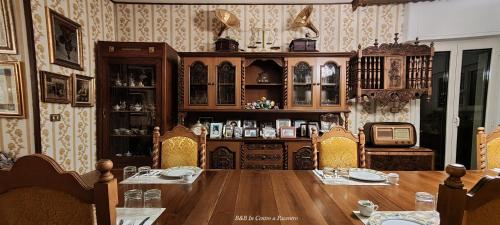
<svg viewBox="0 0 500 225"><path fill-rule="evenodd" d="M228 61L217 65L217 105L236 104L236 66Z"/></svg>

